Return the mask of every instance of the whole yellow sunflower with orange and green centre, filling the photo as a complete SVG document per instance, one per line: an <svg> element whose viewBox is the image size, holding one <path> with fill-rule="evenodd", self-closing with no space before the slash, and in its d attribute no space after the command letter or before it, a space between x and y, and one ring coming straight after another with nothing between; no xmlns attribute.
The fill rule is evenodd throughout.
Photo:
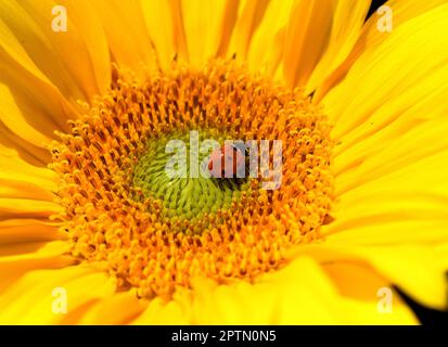
<svg viewBox="0 0 448 347"><path fill-rule="evenodd" d="M445 309L448 3L370 2L2 0L0 322ZM281 140L280 184L169 178L176 139Z"/></svg>

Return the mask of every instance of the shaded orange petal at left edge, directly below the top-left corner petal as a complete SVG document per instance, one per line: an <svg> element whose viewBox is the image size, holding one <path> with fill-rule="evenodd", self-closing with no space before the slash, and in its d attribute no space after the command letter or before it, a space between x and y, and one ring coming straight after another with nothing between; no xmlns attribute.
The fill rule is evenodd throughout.
<svg viewBox="0 0 448 347"><path fill-rule="evenodd" d="M5 7L4 11L1 11L2 15L8 15L7 18L0 15L0 100L3 105L0 123L2 128L8 128L1 132L9 138L9 142L22 142L21 145L29 142L30 145L40 147L53 137L55 129L66 128L67 117L73 117L75 111L53 82L36 66L31 60L34 55L23 47L24 43L29 44L30 40L21 35L33 36L33 33L38 31L36 24L29 20L21 22L21 28L15 27L16 21L7 12L11 10L13 15L21 17L21 14L27 15L23 13L25 10L11 2L2 2L1 5ZM27 24L29 27L26 27ZM35 51L38 52L42 47ZM31 50L30 47L27 48ZM54 55L54 52L49 52L44 57L48 60L50 55ZM60 76L62 75L57 75L57 78ZM11 136L14 133L20 137L20 141ZM9 145L5 139L2 138L1 141ZM41 150L36 149L34 152L39 154Z"/></svg>

